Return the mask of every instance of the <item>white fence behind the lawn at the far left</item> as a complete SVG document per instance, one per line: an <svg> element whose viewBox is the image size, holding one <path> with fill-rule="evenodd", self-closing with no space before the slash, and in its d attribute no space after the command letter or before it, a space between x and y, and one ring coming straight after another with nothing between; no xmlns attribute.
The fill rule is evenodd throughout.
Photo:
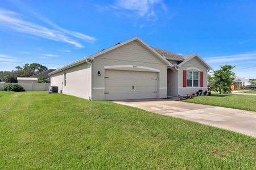
<svg viewBox="0 0 256 170"><path fill-rule="evenodd" d="M0 91L3 90L3 87L5 87L6 84L10 84L10 83L0 82ZM11 83L11 84L19 84L24 88L25 91L48 91L50 86L50 83Z"/></svg>

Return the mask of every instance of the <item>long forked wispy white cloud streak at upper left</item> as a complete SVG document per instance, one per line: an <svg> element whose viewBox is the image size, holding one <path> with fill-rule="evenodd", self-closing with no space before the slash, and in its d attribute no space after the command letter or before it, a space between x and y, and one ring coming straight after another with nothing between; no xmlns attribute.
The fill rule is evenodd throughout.
<svg viewBox="0 0 256 170"><path fill-rule="evenodd" d="M26 20L23 20L20 16L21 16L20 14L17 14L13 11L0 10L0 24L18 32L23 32L23 33L27 33L34 36L43 37L49 40L66 42L68 44L75 45L77 48L82 48L83 46L79 42L77 42L76 40L73 40L71 37L67 35L71 35L73 37L86 40L89 42L94 42L96 40L94 37L84 35L80 32L73 32L73 31L69 31L67 29L61 28L58 25L47 20L46 18L41 17L40 19L44 20L44 22L50 24L55 29L50 29L32 22L28 22Z"/></svg>

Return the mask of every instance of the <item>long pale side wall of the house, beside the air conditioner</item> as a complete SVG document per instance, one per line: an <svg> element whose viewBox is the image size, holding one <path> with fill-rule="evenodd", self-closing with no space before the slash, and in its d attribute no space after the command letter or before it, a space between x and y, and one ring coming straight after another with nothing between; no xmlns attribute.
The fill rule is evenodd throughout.
<svg viewBox="0 0 256 170"><path fill-rule="evenodd" d="M66 73L66 86L63 86L64 72ZM58 86L63 94L89 99L90 97L90 65L82 63L67 70L51 75L51 86Z"/></svg>

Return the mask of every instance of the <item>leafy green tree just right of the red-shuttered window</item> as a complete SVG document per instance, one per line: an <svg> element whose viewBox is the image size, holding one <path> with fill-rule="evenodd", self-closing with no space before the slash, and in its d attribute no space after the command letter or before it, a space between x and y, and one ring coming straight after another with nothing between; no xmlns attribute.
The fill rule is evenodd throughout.
<svg viewBox="0 0 256 170"><path fill-rule="evenodd" d="M235 73L231 71L236 66L221 66L220 70L213 71L212 90L220 94L229 94L232 92L230 86L235 79Z"/></svg>

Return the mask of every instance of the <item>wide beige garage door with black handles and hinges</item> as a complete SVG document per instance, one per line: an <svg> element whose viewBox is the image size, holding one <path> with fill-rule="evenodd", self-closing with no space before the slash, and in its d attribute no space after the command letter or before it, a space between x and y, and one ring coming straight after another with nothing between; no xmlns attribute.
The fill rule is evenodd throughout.
<svg viewBox="0 0 256 170"><path fill-rule="evenodd" d="M105 70L105 100L158 97L158 73Z"/></svg>

